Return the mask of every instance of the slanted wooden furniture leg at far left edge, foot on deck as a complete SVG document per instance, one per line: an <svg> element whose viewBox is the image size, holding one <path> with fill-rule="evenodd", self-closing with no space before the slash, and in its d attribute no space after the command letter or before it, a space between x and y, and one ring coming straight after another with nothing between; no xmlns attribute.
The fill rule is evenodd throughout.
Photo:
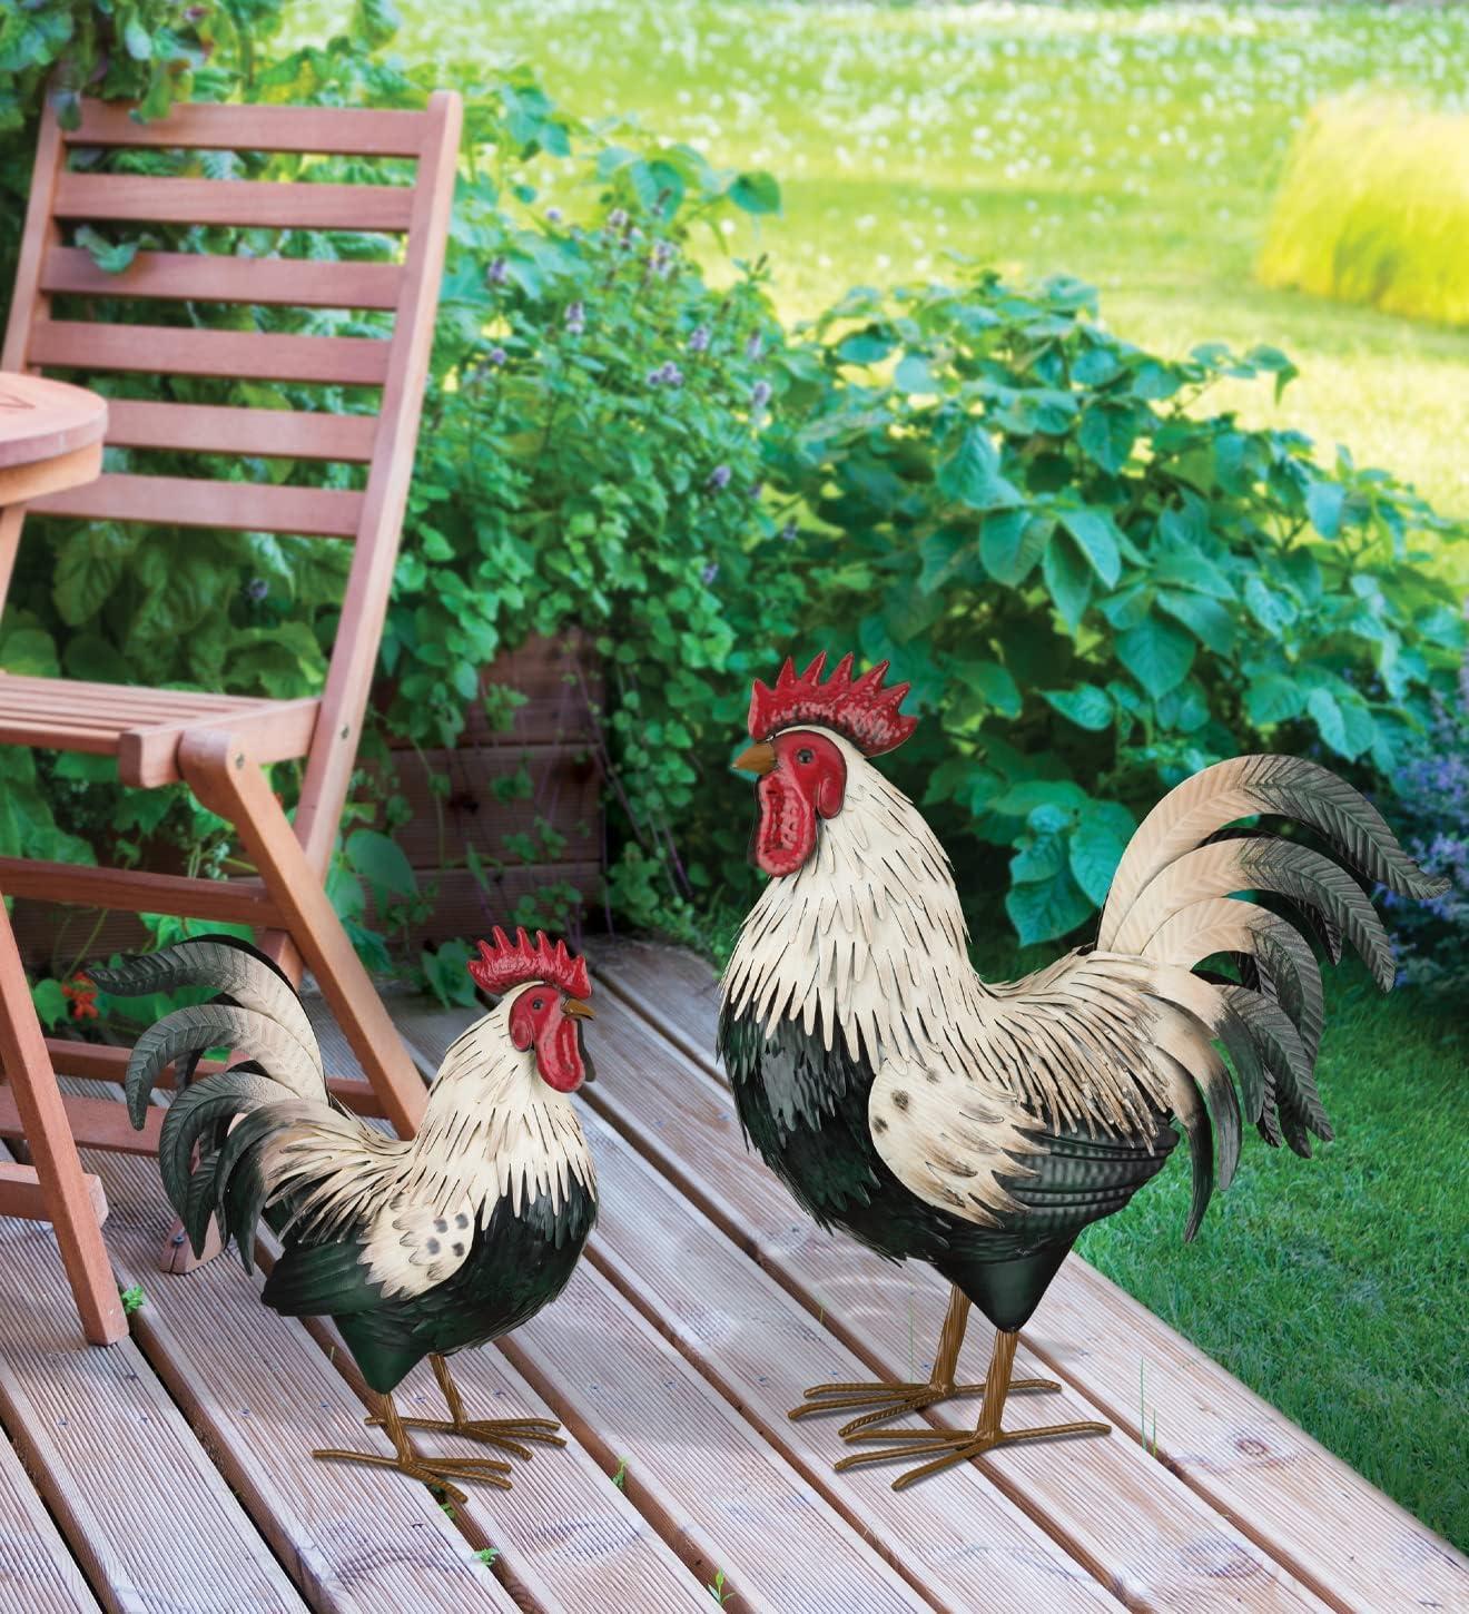
<svg viewBox="0 0 1469 1614"><path fill-rule="evenodd" d="M97 1210L66 1122L61 1089L45 1051L45 1038L26 970L16 951L10 915L0 902L0 1060L26 1130L26 1146L40 1183L47 1217L56 1230L61 1261L82 1330L92 1344L111 1344L128 1333Z"/></svg>

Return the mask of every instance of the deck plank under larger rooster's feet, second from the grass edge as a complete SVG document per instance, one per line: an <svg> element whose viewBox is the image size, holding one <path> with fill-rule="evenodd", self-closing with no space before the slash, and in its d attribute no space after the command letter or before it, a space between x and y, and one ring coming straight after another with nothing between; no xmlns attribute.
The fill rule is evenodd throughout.
<svg viewBox="0 0 1469 1614"><path fill-rule="evenodd" d="M943 1290L927 1267L896 1267L848 1240L831 1240L789 1202L765 1167L746 1152L728 1093L689 1067L676 1051L618 1001L597 1004L597 1068L605 1080L588 1091L596 1107L630 1136L726 1236L767 1267L825 1327L883 1377L927 1372L910 1362L910 1340L931 1349L943 1315ZM689 1162L697 1160L697 1181ZM925 1282L925 1273L927 1282ZM983 1377L990 1330L970 1341L967 1377ZM1041 1374L1022 1351L1017 1374ZM778 1377L776 1377L778 1374ZM806 1388L785 1362L772 1362L786 1406ZM1074 1393L1017 1398L1015 1424L1085 1419L1093 1409ZM931 1422L973 1420L964 1403ZM836 1457L839 1420L810 1428L810 1449ZM1064 1446L1012 1446L983 1459L986 1477L1080 1564L1124 1601L1148 1608L1198 1604L1225 1580L1232 1606L1314 1609L1319 1601L1267 1554L1243 1540L1217 1512L1119 1438ZM891 1475L888 1475L891 1478ZM1146 1532L1138 1520L1146 1519ZM1207 1606L1207 1604L1206 1604Z"/></svg>

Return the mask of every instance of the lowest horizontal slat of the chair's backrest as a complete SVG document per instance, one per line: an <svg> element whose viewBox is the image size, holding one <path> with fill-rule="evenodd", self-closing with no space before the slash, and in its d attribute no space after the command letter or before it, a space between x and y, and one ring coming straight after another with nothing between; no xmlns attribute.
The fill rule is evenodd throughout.
<svg viewBox="0 0 1469 1614"><path fill-rule="evenodd" d="M87 521L147 521L155 526L221 526L236 533L355 537L362 500L360 492L337 487L262 487L253 483L113 471L84 487L47 494L31 510Z"/></svg>

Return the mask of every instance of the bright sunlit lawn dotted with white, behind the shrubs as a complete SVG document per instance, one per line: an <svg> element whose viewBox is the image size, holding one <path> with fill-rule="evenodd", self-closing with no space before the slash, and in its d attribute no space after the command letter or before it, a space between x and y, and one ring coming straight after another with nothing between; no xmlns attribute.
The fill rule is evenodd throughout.
<svg viewBox="0 0 1469 1614"><path fill-rule="evenodd" d="M345 0L297 29L321 37ZM1385 465L1469 513L1469 331L1254 282L1296 129L1362 86L1469 103L1469 10L1379 5L799 5L402 0L407 56L523 58L588 118L636 115L720 166L772 169L785 313L857 282L941 274L959 250L1096 282L1124 336L1167 352L1270 342L1301 366L1220 394L1258 423ZM557 197L562 203L568 199ZM575 199L570 199L575 205Z"/></svg>

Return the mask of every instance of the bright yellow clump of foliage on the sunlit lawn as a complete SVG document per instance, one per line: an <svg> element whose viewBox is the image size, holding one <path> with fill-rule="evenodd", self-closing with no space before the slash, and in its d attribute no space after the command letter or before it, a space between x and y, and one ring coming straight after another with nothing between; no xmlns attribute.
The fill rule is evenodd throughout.
<svg viewBox="0 0 1469 1614"><path fill-rule="evenodd" d="M1469 324L1469 113L1324 102L1296 137L1256 273L1266 286Z"/></svg>

